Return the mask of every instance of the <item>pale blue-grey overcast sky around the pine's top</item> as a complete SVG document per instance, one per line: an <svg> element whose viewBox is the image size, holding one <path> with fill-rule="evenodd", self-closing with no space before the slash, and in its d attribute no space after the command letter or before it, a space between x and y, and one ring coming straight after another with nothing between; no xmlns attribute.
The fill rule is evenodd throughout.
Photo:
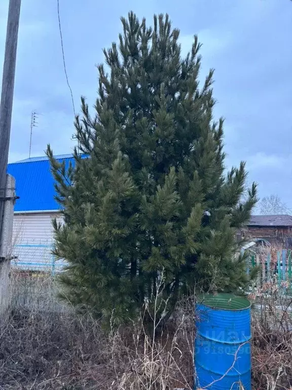
<svg viewBox="0 0 292 390"><path fill-rule="evenodd" d="M292 2L289 0L59 0L65 60L77 111L80 96L97 96L101 49L117 41L120 16L133 10L152 23L168 13L186 53L198 34L203 78L215 68L215 117L224 116L226 165L246 160L260 196L277 193L292 206ZM9 0L0 2L2 68ZM2 74L2 72L1 72ZM47 143L70 153L72 103L63 70L57 0L22 0L9 161L32 156Z"/></svg>

